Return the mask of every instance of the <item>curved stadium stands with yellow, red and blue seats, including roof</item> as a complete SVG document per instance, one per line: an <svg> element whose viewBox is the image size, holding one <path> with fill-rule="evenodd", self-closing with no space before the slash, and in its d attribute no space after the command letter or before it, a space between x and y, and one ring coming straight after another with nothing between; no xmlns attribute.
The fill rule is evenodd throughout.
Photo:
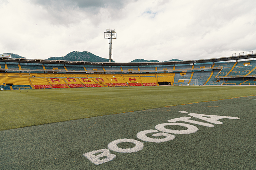
<svg viewBox="0 0 256 170"><path fill-rule="evenodd" d="M4 90L158 85L255 85L256 54L213 59L103 63L0 57ZM196 81L194 81L196 80Z"/></svg>

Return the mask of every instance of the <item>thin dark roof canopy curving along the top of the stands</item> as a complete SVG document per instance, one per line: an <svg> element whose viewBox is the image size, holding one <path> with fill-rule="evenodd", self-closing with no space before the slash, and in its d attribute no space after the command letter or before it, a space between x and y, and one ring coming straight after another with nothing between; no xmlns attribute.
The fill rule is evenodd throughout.
<svg viewBox="0 0 256 170"><path fill-rule="evenodd" d="M72 64L72 65L102 65L102 66L144 66L144 65L171 65L171 64L195 64L208 62L224 62L231 60L241 60L248 58L256 58L256 54L239 55L222 58L172 61L172 62L150 62L150 63L106 63L106 62L85 62L85 61L63 61L63 60L41 60L27 58L5 58L0 57L0 62L17 62L17 63L41 63L41 64Z"/></svg>

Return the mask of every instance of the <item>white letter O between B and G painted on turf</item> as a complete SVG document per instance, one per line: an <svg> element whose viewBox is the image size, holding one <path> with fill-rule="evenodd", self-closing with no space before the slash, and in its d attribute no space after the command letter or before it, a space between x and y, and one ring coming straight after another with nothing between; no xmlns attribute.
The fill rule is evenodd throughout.
<svg viewBox="0 0 256 170"><path fill-rule="evenodd" d="M119 148L117 147L117 144L122 142L131 142L134 143L135 146L133 148ZM135 139L117 139L108 144L108 149L115 151L115 152L121 152L121 153L132 153L140 151L143 148L143 143L135 140Z"/></svg>

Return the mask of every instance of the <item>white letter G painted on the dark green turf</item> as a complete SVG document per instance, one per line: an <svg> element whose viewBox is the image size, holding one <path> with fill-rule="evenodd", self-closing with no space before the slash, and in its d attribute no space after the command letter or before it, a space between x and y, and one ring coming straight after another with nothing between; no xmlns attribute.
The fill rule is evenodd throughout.
<svg viewBox="0 0 256 170"><path fill-rule="evenodd" d="M159 138L147 137L146 134L148 134L148 133L154 133L152 135L153 137L165 136L165 138L159 139ZM156 142L156 143L170 141L170 140L175 138L174 135L171 135L171 134L168 134L168 133L159 132L158 130L153 130L153 129L152 130L140 131L139 133L137 133L137 137L140 140L143 140L143 141L146 141L146 142Z"/></svg>

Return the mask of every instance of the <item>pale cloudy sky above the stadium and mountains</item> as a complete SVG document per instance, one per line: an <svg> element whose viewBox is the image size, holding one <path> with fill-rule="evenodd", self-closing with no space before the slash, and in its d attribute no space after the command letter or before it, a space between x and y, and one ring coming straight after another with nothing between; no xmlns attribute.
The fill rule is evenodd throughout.
<svg viewBox="0 0 256 170"><path fill-rule="evenodd" d="M256 53L255 0L0 0L0 54L71 51L113 60L195 60Z"/></svg>

